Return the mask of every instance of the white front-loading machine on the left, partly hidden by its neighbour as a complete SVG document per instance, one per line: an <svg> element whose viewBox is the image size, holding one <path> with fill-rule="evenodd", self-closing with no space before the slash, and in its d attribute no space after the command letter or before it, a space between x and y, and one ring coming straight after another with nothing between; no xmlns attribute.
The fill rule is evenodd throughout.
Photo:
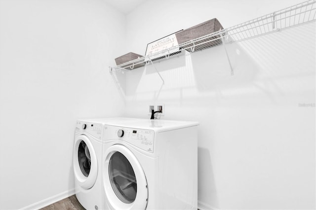
<svg viewBox="0 0 316 210"><path fill-rule="evenodd" d="M132 118L78 120L75 130L73 165L75 192L87 210L100 209L102 139L109 122L133 121Z"/></svg>

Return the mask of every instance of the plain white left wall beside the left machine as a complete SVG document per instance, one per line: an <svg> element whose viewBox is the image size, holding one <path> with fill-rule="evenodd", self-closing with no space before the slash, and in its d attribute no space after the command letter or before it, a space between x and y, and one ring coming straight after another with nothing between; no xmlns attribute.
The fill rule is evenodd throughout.
<svg viewBox="0 0 316 210"><path fill-rule="evenodd" d="M125 16L104 1L0 8L0 209L34 208L74 192L76 120L122 113L108 66L125 47Z"/></svg>

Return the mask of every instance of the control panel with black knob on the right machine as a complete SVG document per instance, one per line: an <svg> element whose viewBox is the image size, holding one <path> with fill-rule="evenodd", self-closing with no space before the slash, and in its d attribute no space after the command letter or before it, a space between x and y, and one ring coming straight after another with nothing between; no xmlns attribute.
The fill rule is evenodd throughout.
<svg viewBox="0 0 316 210"><path fill-rule="evenodd" d="M127 141L148 152L154 152L154 131L120 128L116 130L116 134L118 139Z"/></svg>

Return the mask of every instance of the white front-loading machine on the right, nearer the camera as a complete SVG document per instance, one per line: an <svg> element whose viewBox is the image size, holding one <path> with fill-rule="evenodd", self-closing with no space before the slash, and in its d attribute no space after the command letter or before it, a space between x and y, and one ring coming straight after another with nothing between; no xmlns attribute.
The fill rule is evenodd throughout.
<svg viewBox="0 0 316 210"><path fill-rule="evenodd" d="M105 126L103 209L197 209L197 122Z"/></svg>

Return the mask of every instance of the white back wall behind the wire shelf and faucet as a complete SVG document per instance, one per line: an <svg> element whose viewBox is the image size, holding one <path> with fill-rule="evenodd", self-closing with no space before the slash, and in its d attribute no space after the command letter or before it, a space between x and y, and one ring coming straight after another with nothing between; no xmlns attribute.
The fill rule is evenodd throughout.
<svg viewBox="0 0 316 210"><path fill-rule="evenodd" d="M231 27L299 2L146 1L127 15L127 49L144 55L214 17ZM164 104L161 119L200 122L200 208L315 209L315 29L228 44L234 76L222 46L156 63L164 85L152 66L125 73L126 116Z"/></svg>

